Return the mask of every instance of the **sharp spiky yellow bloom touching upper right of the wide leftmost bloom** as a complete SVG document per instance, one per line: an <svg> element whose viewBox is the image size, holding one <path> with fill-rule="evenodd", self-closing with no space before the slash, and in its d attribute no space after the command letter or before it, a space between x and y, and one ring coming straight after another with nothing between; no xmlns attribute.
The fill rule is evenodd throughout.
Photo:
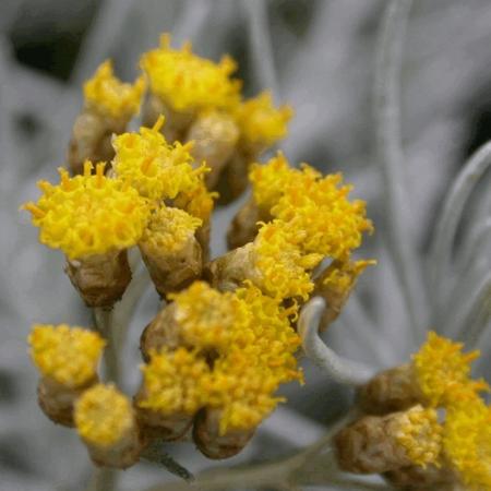
<svg viewBox="0 0 491 491"><path fill-rule="evenodd" d="M192 168L192 143L169 145L166 142L159 132L163 124L164 117L160 117L153 128L142 127L140 134L120 134L112 142L117 176L152 200L173 199L180 191L195 188L199 176L206 169Z"/></svg>

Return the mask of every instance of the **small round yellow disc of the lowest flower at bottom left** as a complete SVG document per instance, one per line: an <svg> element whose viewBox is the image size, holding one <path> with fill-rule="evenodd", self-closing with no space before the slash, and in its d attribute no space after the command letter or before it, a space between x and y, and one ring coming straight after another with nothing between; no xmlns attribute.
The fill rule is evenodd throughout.
<svg viewBox="0 0 491 491"><path fill-rule="evenodd" d="M75 403L74 420L82 440L96 446L112 446L134 427L131 402L113 385L97 384Z"/></svg>

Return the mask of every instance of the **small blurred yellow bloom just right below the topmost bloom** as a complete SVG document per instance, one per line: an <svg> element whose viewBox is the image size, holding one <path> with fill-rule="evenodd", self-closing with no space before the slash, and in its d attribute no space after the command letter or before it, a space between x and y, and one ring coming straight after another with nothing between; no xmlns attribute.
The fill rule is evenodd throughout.
<svg viewBox="0 0 491 491"><path fill-rule="evenodd" d="M235 116L240 136L247 144L265 148L287 134L287 123L294 111L290 106L273 106L271 92L240 104Z"/></svg>

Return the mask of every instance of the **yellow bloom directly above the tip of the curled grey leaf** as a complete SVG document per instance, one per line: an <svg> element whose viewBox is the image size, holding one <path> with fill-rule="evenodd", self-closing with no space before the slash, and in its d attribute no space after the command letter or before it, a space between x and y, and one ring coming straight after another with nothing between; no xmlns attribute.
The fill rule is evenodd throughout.
<svg viewBox="0 0 491 491"><path fill-rule="evenodd" d="M275 298L307 299L314 287L308 271L322 261L322 255L301 254L291 242L291 235L278 220L261 227L253 243L255 265L261 274L258 286Z"/></svg>

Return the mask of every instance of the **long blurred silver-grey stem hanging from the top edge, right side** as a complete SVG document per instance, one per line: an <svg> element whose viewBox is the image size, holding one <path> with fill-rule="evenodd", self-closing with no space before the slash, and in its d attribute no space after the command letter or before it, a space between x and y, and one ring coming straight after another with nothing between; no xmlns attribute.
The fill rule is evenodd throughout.
<svg viewBox="0 0 491 491"><path fill-rule="evenodd" d="M375 128L378 155L384 179L388 239L394 255L416 345L424 336L427 302L414 238L408 227L400 132L400 73L403 45L411 0L388 3L381 26L375 69Z"/></svg>

